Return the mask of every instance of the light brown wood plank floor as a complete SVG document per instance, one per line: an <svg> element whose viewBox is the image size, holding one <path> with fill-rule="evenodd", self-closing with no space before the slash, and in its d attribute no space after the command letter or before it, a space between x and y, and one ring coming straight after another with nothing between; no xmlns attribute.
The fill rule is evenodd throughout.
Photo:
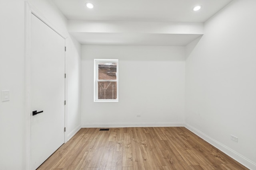
<svg viewBox="0 0 256 170"><path fill-rule="evenodd" d="M38 170L248 170L185 127L82 128Z"/></svg>

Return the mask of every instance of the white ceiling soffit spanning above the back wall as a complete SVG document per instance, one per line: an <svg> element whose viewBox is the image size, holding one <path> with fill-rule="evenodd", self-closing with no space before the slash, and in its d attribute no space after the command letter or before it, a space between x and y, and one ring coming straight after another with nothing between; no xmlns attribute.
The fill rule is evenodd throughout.
<svg viewBox="0 0 256 170"><path fill-rule="evenodd" d="M185 46L203 35L203 23L68 21L81 44Z"/></svg>

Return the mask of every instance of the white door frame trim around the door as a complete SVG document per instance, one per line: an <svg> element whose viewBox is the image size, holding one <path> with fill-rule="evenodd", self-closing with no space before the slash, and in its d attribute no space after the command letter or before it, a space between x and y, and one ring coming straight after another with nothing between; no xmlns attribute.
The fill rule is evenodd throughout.
<svg viewBox="0 0 256 170"><path fill-rule="evenodd" d="M63 33L60 33L50 21L48 21L42 13L40 13L36 8L34 8L30 3L25 1L25 158L26 164L25 169L31 170L31 15L35 15L38 19L44 22L48 27L53 29L56 33L58 33L65 41L67 36ZM63 49L64 50L64 49ZM66 52L64 56L64 72L66 73ZM63 75L64 76L64 75ZM65 78L65 92L64 96L67 100L67 83ZM63 101L64 102L64 101ZM67 104L64 105L64 127L67 127L67 113L66 109ZM67 129L67 128L66 128ZM63 129L64 130L64 129ZM64 143L67 142L67 131L64 132ZM50 156L50 155L49 155Z"/></svg>

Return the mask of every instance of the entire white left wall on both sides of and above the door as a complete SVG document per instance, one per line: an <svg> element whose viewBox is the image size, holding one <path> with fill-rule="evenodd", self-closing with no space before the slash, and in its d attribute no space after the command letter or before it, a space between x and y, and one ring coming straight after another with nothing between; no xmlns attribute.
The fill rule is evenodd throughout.
<svg viewBox="0 0 256 170"><path fill-rule="evenodd" d="M25 113L25 1L0 2L0 95L10 90L10 101L0 101L0 169L28 170ZM68 36L66 46L67 132L80 127L80 44L68 35L67 21L51 0L29 0L55 28ZM74 90L73 90L74 89Z"/></svg>

